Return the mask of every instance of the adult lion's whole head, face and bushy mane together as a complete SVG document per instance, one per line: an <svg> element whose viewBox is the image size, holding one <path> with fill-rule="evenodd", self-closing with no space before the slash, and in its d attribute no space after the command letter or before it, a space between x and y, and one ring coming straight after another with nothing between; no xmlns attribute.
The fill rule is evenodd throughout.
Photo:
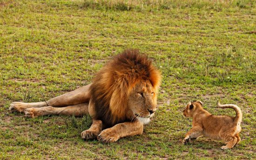
<svg viewBox="0 0 256 160"><path fill-rule="evenodd" d="M124 121L148 123L156 110L161 75L138 50L116 55L96 74L90 87L95 117L108 126Z"/></svg>

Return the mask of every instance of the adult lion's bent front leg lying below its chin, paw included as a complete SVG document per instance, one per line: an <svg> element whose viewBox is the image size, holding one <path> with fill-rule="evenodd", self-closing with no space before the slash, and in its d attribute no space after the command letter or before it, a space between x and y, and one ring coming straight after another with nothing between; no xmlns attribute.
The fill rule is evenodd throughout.
<svg viewBox="0 0 256 160"><path fill-rule="evenodd" d="M143 132L143 124L140 122L124 122L116 124L112 128L104 129L98 135L98 140L109 143L115 142L122 137L141 135Z"/></svg>

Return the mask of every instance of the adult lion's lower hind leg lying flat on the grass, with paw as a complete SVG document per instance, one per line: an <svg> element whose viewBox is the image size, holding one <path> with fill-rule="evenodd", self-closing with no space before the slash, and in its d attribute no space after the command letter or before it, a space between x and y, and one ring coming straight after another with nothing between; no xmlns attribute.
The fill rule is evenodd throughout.
<svg viewBox="0 0 256 160"><path fill-rule="evenodd" d="M56 108L52 106L41 108L27 108L24 110L27 117L38 117L40 115L74 115L81 116L88 114L88 103L81 103L77 105Z"/></svg>

